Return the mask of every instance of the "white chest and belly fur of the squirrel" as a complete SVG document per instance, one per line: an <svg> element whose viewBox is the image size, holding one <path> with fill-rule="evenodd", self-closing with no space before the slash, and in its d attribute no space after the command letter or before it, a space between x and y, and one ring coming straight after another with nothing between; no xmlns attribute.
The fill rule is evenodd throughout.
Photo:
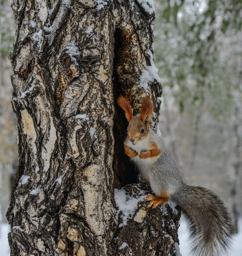
<svg viewBox="0 0 242 256"><path fill-rule="evenodd" d="M131 160L133 162L135 162L135 164L137 165L137 167L139 168L139 171L143 177L143 179L146 179L147 181L149 181L149 172L150 172L150 167L157 161L157 159L159 158L159 156L157 157L149 157L146 159L142 159L139 157L139 154L142 151L148 151L148 144L147 141L141 141L141 142L137 142L135 145L132 144L131 141L128 141L126 143L126 145L131 149L131 150L135 150L138 155L135 158L131 158Z"/></svg>

